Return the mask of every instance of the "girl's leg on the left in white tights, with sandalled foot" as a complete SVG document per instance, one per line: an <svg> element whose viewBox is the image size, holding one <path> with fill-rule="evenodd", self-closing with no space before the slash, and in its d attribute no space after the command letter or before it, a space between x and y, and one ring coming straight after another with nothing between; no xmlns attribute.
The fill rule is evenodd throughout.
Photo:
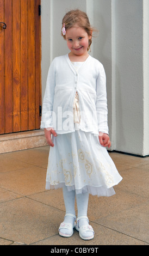
<svg viewBox="0 0 149 256"><path fill-rule="evenodd" d="M65 209L66 209L66 216L64 218L63 223L69 223L74 225L75 221L75 210L74 210L74 202L75 202L75 191L68 191L67 187L63 187L63 197L64 197L64 203L65 203ZM71 231L67 228L60 228L60 233L63 233L65 235L70 235Z"/></svg>

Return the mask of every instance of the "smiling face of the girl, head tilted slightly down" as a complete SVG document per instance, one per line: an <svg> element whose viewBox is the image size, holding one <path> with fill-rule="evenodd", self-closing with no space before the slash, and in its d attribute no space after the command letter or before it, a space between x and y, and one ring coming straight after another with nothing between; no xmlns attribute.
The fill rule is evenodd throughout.
<svg viewBox="0 0 149 256"><path fill-rule="evenodd" d="M91 36L79 26L66 29L67 46L73 55L85 56L88 54L89 39Z"/></svg>

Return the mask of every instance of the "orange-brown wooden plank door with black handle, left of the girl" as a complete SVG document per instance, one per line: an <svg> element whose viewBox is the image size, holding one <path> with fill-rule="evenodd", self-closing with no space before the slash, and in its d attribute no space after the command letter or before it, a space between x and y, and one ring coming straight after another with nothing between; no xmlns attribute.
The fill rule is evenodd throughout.
<svg viewBox="0 0 149 256"><path fill-rule="evenodd" d="M40 128L40 0L0 0L0 134Z"/></svg>

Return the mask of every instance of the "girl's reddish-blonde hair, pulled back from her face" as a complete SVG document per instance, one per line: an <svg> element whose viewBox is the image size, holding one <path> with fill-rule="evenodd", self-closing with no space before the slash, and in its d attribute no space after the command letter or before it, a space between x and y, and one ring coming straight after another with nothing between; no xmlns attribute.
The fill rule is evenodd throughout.
<svg viewBox="0 0 149 256"><path fill-rule="evenodd" d="M92 36L92 31L95 31L95 29L90 26L89 18L86 15L86 13L79 9L68 11L62 20L62 28L64 26L64 23L66 31L67 29L72 28L76 23L79 27L84 28L84 30L86 31L86 33L88 33L89 36ZM63 35L62 32L61 35L66 40L66 36ZM91 42L92 38L89 39L88 51L90 50Z"/></svg>

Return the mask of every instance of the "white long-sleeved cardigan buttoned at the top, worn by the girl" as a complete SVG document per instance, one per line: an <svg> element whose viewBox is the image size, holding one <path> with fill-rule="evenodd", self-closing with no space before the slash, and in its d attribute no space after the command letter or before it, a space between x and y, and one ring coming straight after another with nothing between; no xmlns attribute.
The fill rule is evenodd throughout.
<svg viewBox="0 0 149 256"><path fill-rule="evenodd" d="M98 135L108 133L107 93L103 65L89 56L78 72L69 55L54 58L49 67L41 129L53 127L57 133L75 131L73 101L79 96L80 123L78 129Z"/></svg>

